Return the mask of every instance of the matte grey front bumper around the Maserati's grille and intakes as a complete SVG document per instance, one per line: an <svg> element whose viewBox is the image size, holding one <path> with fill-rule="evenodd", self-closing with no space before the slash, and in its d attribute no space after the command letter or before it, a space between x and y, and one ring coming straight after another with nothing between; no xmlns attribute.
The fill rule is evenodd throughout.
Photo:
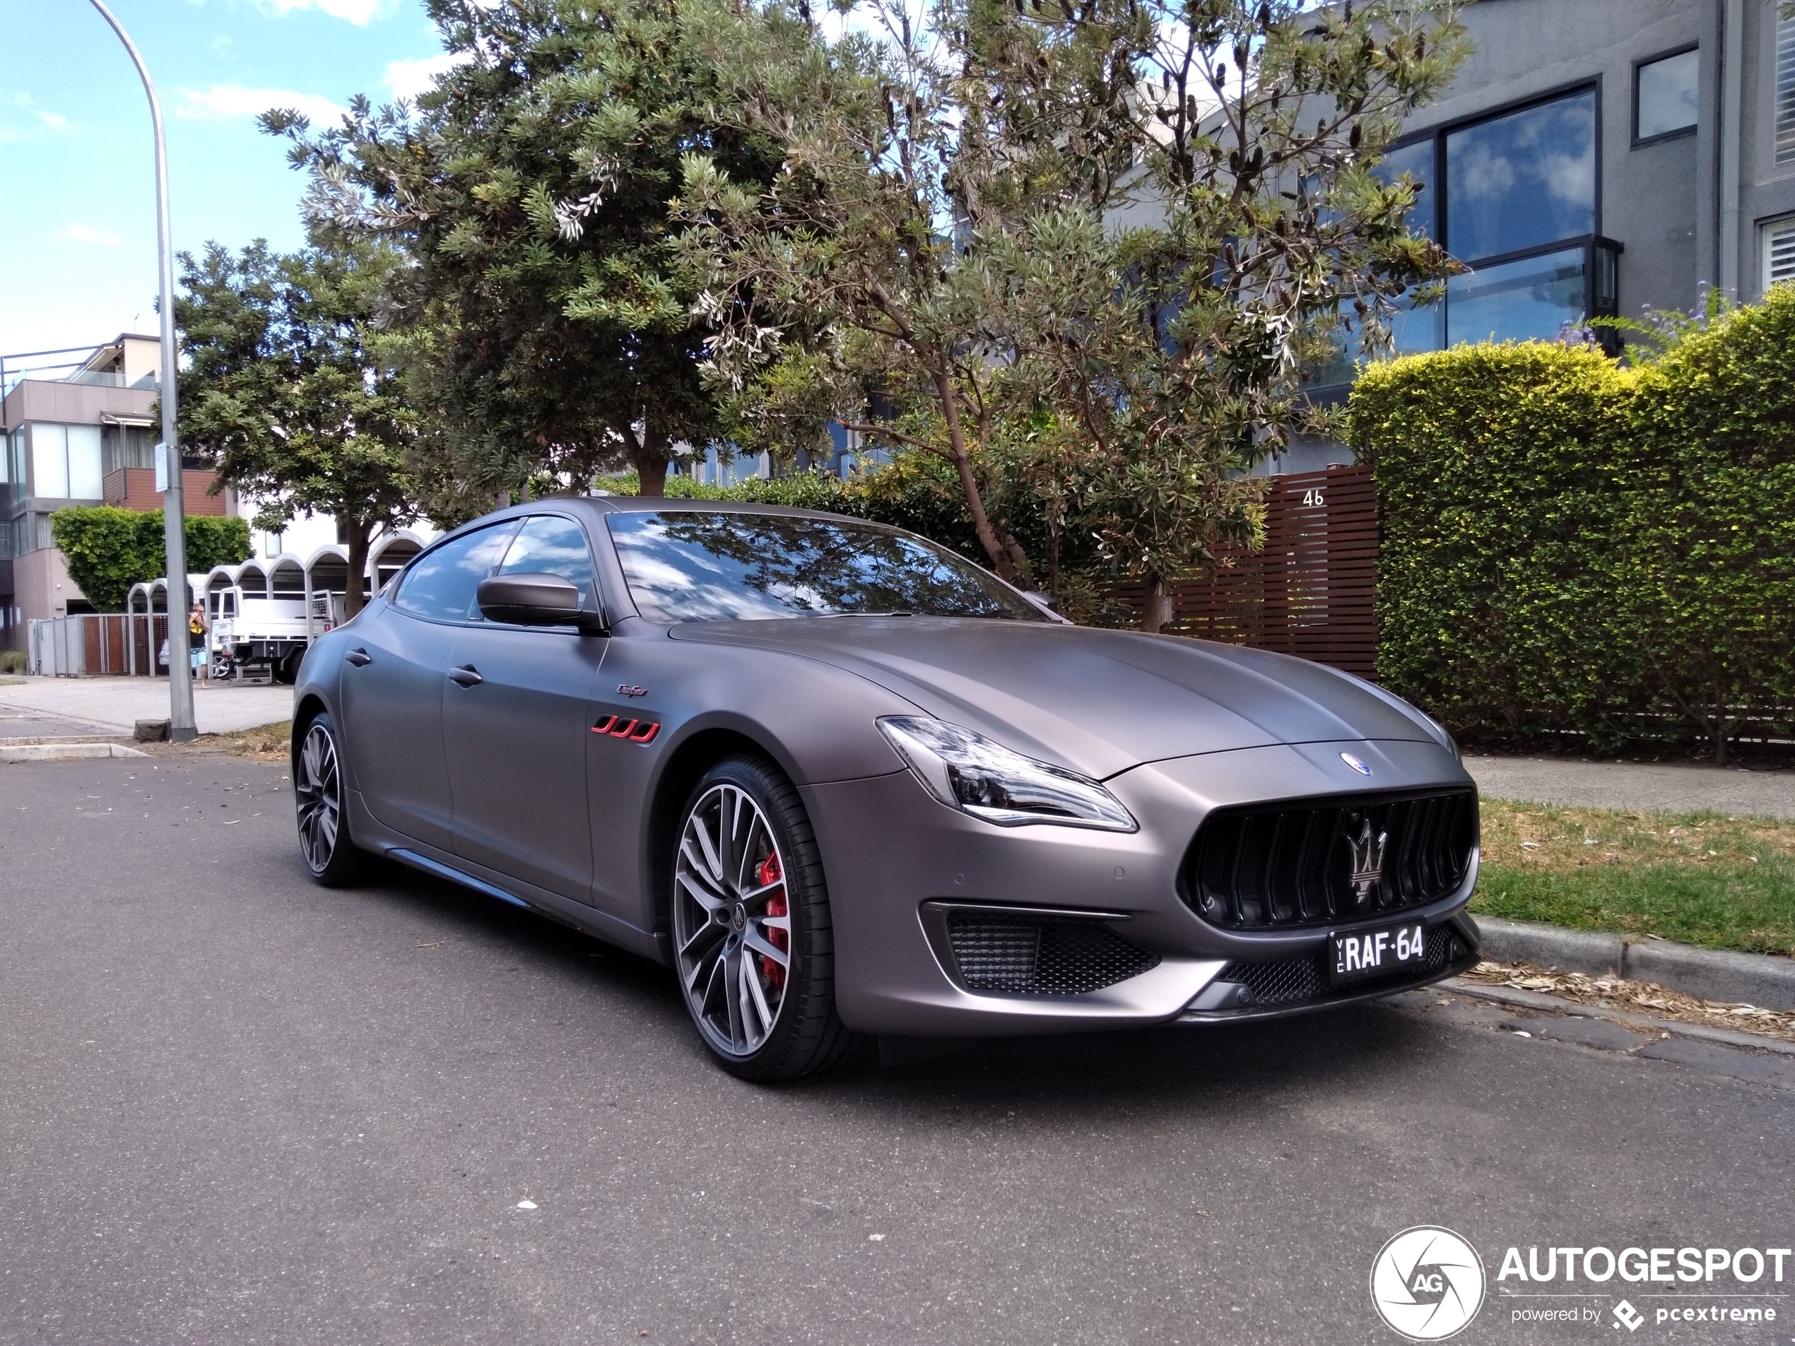
<svg viewBox="0 0 1795 1346"><path fill-rule="evenodd" d="M1368 782L1341 761L1343 750L1371 766L1380 791L1470 784L1463 766L1432 743L1312 743L1178 757L1106 782L1140 822L1136 833L994 827L935 802L908 772L804 786L829 881L842 1021L860 1032L951 1037L1273 1018L1461 971L1475 962L1475 924L1461 915L1475 858L1454 894L1400 913L1422 921L1431 939L1456 940L1443 946L1450 957L1440 966L1431 960L1420 975L1339 996L1203 1000L1230 966L1318 960L1328 930L1239 933L1199 919L1178 896L1192 836L1210 809L1226 804L1364 788ZM980 908L1091 913L1156 962L1095 991L973 991L944 948L944 915ZM1362 924L1389 919L1397 917Z"/></svg>

